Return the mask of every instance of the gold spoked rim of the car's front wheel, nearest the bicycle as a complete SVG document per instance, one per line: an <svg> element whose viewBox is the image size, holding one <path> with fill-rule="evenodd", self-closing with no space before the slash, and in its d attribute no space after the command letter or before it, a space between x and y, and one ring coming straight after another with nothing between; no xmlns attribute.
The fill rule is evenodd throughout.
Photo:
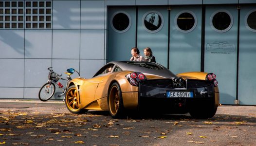
<svg viewBox="0 0 256 146"><path fill-rule="evenodd" d="M66 95L66 105L69 110L73 112L77 112L79 109L78 107L78 100L77 100L77 91L75 87L69 89Z"/></svg>

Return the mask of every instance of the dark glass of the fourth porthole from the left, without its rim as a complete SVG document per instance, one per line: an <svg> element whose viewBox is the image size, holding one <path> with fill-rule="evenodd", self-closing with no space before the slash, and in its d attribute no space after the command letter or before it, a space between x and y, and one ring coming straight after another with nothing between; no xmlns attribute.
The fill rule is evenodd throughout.
<svg viewBox="0 0 256 146"><path fill-rule="evenodd" d="M213 26L218 30L225 30L231 23L230 16L225 12L219 12L212 19Z"/></svg>

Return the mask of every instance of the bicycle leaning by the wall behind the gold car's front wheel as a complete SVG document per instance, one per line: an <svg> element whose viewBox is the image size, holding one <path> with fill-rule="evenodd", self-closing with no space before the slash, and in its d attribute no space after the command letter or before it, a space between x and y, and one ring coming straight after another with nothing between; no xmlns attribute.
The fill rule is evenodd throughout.
<svg viewBox="0 0 256 146"><path fill-rule="evenodd" d="M58 97L60 97L63 94L66 94L67 87L70 81L72 80L70 75L73 74L74 72L77 72L73 68L67 69L67 72L65 72L65 74L67 74L68 76L67 76L67 79L64 79L64 78L61 78L62 73L59 75L58 73L55 73L52 68L53 67L48 68L48 70L50 71L48 74L48 81L39 90L38 97L41 101L47 101L52 98L52 96L55 93L55 86L57 86L60 90L63 91L63 93L59 94ZM79 73L78 75L80 77ZM63 85L60 82L58 82L58 80L67 81L65 89L62 89ZM65 97L63 101L64 100L65 100Z"/></svg>

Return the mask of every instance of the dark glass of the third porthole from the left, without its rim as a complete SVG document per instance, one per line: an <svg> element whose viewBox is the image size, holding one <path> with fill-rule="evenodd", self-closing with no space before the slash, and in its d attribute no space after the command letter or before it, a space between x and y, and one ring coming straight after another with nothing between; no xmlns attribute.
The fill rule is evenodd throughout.
<svg viewBox="0 0 256 146"><path fill-rule="evenodd" d="M194 26L195 18L190 13L182 13L177 19L177 24L180 29L187 31Z"/></svg>

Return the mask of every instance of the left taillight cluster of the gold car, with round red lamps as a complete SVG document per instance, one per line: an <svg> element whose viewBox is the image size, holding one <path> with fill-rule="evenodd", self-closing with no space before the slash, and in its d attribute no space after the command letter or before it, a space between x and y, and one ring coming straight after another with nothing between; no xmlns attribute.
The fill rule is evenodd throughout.
<svg viewBox="0 0 256 146"><path fill-rule="evenodd" d="M139 75L138 75L139 74ZM140 72L132 72L126 75L127 80L133 86L138 86L141 80L146 80L146 76Z"/></svg>

